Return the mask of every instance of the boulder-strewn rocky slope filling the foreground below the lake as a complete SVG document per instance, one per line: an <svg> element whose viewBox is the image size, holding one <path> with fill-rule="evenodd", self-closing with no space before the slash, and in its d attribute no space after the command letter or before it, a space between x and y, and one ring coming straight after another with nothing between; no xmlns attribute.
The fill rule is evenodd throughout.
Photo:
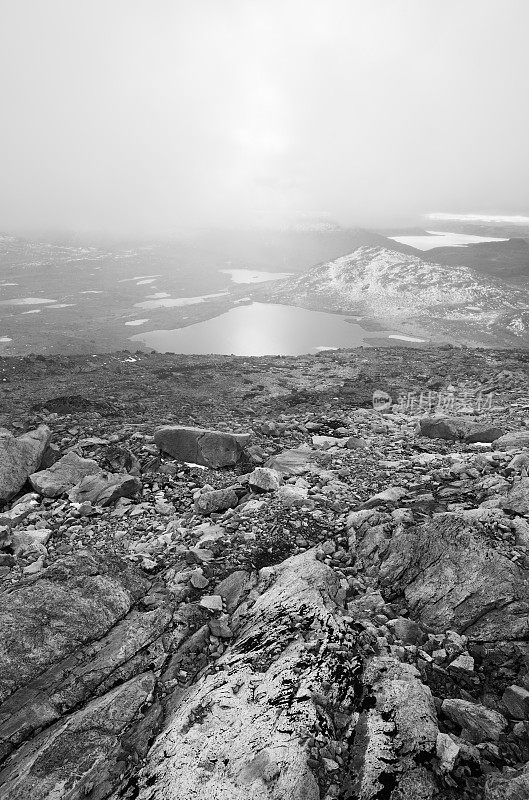
<svg viewBox="0 0 529 800"><path fill-rule="evenodd" d="M528 796L525 352L0 369L2 798Z"/></svg>

